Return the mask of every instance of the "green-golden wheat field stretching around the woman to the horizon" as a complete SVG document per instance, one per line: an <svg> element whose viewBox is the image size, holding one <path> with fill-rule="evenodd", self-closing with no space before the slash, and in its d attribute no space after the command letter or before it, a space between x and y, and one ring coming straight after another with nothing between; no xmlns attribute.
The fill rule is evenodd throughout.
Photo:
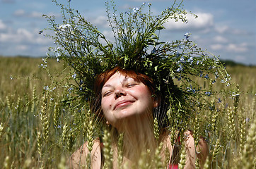
<svg viewBox="0 0 256 169"><path fill-rule="evenodd" d="M47 72L42 63L42 58L0 57L0 168L66 168L72 152L90 138L86 105L72 99L62 78L69 70L48 59ZM192 122L211 135L210 155L201 167L255 168L256 67L226 70L238 84L233 99L223 96L227 99L214 104L219 111Z"/></svg>

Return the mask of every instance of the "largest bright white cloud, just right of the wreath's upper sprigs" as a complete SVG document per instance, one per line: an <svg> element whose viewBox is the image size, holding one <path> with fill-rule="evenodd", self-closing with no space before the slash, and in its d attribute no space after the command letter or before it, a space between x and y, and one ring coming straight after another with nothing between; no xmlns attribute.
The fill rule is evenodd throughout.
<svg viewBox="0 0 256 169"><path fill-rule="evenodd" d="M188 23L182 23L181 21L175 22L175 20L169 20L165 23L167 30L184 30L184 29L197 29L207 30L207 28L214 25L214 15L211 13L195 13L198 18L194 18L192 15L187 15Z"/></svg>

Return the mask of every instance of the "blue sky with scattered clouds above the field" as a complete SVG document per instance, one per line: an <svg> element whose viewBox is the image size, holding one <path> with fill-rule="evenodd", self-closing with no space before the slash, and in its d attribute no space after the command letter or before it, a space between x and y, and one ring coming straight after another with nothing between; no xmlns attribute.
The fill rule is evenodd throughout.
<svg viewBox="0 0 256 169"><path fill-rule="evenodd" d="M59 2L66 4L67 0ZM170 0L116 0L118 11L123 12L143 2L150 2L156 14L173 4ZM199 18L189 17L187 24L167 23L164 41L182 39L191 32L190 39L202 49L224 60L256 65L255 0L185 0L183 4ZM105 1L71 0L71 7L107 33ZM59 8L51 0L0 0L0 55L45 56L47 47L54 45L51 39L38 34L48 26L42 14L61 19Z"/></svg>

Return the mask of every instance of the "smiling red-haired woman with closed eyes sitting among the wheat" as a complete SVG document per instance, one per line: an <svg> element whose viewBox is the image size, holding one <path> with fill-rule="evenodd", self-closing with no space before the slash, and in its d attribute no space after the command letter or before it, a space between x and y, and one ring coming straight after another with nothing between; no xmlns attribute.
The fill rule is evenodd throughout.
<svg viewBox="0 0 256 169"><path fill-rule="evenodd" d="M168 110L163 98L161 93L156 93L156 86L150 77L134 70L116 67L98 75L91 110L102 118L103 123L111 127L116 137L112 139L113 168L117 168L117 136L120 133L124 133L123 164L129 168L137 168L138 160L145 152L149 152L150 161L159 142L163 142L161 156L162 162L168 161L166 168L178 168L180 138L177 137L178 145L171 144L165 119ZM153 131L154 118L158 118L160 124L158 140ZM187 154L185 168L195 168L197 156L202 165L208 154L204 139L199 141L199 154L196 154L192 132L185 132L184 142ZM165 151L170 155L165 156ZM86 165L88 154L86 143L71 156L71 167L80 168ZM103 168L103 165L103 144L100 139L95 139L91 151L91 168Z"/></svg>

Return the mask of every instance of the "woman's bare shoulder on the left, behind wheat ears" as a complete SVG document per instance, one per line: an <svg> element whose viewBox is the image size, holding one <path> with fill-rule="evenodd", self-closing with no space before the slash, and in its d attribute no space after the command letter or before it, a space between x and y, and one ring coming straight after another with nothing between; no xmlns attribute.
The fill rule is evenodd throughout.
<svg viewBox="0 0 256 169"><path fill-rule="evenodd" d="M86 168L87 158L90 154L88 150L88 142L83 144L79 149L77 149L74 154L71 155L69 161L70 168ZM101 165L101 152L100 152L100 140L93 140L93 149L90 154L91 158L91 168L100 168Z"/></svg>

